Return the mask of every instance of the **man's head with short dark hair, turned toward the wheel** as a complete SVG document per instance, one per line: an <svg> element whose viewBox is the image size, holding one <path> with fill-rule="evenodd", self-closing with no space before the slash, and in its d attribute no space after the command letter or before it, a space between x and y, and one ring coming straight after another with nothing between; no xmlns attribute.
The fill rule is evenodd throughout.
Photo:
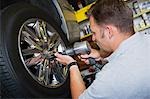
<svg viewBox="0 0 150 99"><path fill-rule="evenodd" d="M123 1L97 0L90 10L93 41L105 51L113 52L134 34L132 10Z"/></svg>

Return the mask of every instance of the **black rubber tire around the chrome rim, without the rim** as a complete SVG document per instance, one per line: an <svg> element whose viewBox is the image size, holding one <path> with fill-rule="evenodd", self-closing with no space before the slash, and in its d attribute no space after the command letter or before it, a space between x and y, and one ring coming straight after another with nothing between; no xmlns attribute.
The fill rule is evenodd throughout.
<svg viewBox="0 0 150 99"><path fill-rule="evenodd" d="M40 18L53 26L64 43L69 44L60 27L43 10L29 4L13 4L1 13L0 80L2 98L69 98L69 77L58 88L48 88L36 82L25 70L18 50L18 33L29 18Z"/></svg>

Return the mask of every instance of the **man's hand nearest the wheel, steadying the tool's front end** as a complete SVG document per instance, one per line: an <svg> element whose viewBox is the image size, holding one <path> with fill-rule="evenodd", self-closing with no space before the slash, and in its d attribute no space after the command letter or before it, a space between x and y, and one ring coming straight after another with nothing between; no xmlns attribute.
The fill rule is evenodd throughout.
<svg viewBox="0 0 150 99"><path fill-rule="evenodd" d="M75 60L71 56L68 56L68 55L62 55L59 53L55 53L55 56L57 57L56 60L64 65L67 65L71 62L75 62Z"/></svg>

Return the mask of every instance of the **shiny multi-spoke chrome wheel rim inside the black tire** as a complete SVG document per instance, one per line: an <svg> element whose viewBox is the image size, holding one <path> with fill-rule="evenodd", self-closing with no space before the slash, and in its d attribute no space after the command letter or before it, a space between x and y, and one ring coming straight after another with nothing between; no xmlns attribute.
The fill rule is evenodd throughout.
<svg viewBox="0 0 150 99"><path fill-rule="evenodd" d="M41 19L28 19L20 28L18 48L28 73L41 85L54 88L61 86L68 69L55 59L57 51L65 49L58 32Z"/></svg>

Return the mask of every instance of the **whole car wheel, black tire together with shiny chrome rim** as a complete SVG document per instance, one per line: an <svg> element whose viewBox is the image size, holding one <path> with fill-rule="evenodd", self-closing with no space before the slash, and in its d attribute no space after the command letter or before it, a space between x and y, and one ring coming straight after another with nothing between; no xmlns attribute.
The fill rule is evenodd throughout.
<svg viewBox="0 0 150 99"><path fill-rule="evenodd" d="M49 59L50 53L69 44L52 16L32 5L18 3L2 11L1 21L2 98L69 98L67 68Z"/></svg>

